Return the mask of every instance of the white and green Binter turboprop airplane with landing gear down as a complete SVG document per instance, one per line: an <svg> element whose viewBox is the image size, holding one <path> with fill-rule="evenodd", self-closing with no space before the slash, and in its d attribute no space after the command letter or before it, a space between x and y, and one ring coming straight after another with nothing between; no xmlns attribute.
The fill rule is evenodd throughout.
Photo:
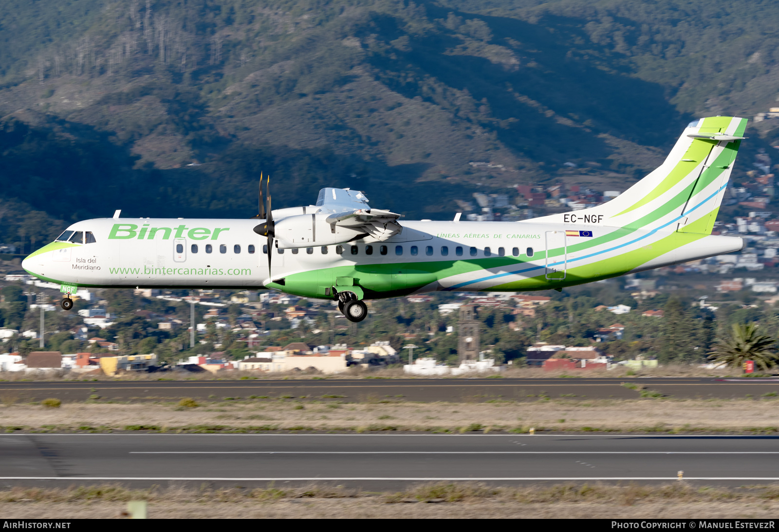
<svg viewBox="0 0 779 532"><path fill-rule="evenodd" d="M268 288L333 299L351 321L364 299L432 291L527 291L616 277L741 250L711 234L746 119L689 124L668 158L624 194L521 222L398 221L358 191L255 219L91 219L30 254L23 268L77 287ZM262 189L262 187L261 187ZM267 209L267 215L263 211ZM259 223L258 225L258 222ZM270 253L269 253L270 252Z"/></svg>

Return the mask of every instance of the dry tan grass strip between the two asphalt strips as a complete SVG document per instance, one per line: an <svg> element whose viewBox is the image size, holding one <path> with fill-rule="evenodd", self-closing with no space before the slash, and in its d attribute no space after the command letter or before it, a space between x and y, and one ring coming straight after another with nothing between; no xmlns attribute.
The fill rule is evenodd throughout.
<svg viewBox="0 0 779 532"><path fill-rule="evenodd" d="M369 400L370 398L368 398ZM337 403L287 399L212 401L197 408L176 402L127 404L2 404L0 430L37 432L153 430L160 432L425 431L425 432L779 432L766 397L717 400L567 400L491 403L409 403L386 400ZM760 403L760 407L756 403Z"/></svg>

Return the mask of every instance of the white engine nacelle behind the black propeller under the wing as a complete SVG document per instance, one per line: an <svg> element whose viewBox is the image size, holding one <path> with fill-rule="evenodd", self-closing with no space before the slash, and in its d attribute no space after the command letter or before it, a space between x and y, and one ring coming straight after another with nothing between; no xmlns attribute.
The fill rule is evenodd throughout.
<svg viewBox="0 0 779 532"><path fill-rule="evenodd" d="M368 236L361 227L343 227L327 223L327 214L287 216L276 222L274 233L281 249L331 246Z"/></svg>

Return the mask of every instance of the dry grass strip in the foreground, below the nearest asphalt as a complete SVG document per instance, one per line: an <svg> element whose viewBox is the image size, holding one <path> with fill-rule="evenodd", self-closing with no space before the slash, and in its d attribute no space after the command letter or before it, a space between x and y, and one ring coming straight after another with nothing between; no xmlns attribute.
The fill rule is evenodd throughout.
<svg viewBox="0 0 779 532"><path fill-rule="evenodd" d="M12 488L0 492L0 513L6 519L110 518L120 516L129 500L146 500L150 518L773 518L779 510L779 486L432 484L397 493L316 485Z"/></svg>

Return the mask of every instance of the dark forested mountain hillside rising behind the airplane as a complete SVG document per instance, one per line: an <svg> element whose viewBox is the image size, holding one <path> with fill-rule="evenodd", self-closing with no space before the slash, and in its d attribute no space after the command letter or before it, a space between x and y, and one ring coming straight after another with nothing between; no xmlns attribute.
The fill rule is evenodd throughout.
<svg viewBox="0 0 779 532"><path fill-rule="evenodd" d="M2 2L0 239L115 208L248 217L260 171L274 206L336 185L426 218L514 184L624 190L694 117L775 105L777 20L721 0ZM747 155L779 140L750 135Z"/></svg>

